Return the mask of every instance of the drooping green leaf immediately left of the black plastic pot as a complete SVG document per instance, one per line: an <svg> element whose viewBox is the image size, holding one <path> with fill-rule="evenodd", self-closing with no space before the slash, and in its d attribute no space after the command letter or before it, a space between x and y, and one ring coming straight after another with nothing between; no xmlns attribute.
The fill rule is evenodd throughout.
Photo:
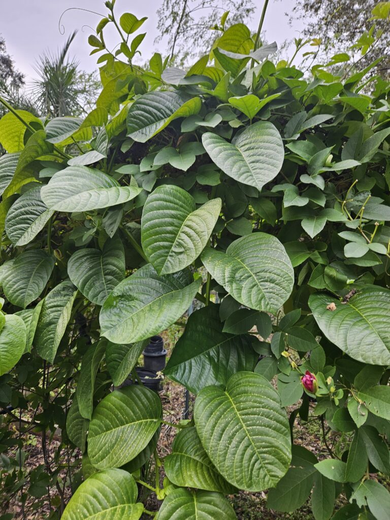
<svg viewBox="0 0 390 520"><path fill-rule="evenodd" d="M148 340L133 345L107 342L106 364L114 386L120 386L125 381L147 344Z"/></svg>

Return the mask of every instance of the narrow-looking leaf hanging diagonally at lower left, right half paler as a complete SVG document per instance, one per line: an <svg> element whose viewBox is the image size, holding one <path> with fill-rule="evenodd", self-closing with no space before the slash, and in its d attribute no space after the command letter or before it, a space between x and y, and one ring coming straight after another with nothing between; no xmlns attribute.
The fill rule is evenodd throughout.
<svg viewBox="0 0 390 520"><path fill-rule="evenodd" d="M38 354L53 363L58 345L67 328L77 291L64 281L45 297L35 331L34 345Z"/></svg>

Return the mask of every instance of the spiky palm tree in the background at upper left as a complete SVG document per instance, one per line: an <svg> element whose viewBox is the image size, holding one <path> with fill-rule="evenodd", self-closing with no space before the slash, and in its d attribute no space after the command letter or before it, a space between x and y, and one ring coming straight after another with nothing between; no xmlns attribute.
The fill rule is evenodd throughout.
<svg viewBox="0 0 390 520"><path fill-rule="evenodd" d="M76 31L69 36L57 54L46 52L40 56L34 67L39 79L34 81L32 95L35 106L42 115L56 118L83 112L79 102L80 88L77 85L79 62L67 57L75 35Z"/></svg>

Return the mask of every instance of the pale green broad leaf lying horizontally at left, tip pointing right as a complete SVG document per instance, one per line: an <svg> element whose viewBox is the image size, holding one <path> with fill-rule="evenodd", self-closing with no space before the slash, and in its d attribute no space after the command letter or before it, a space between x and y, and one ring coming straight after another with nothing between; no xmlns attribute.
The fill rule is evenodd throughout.
<svg viewBox="0 0 390 520"><path fill-rule="evenodd" d="M53 175L41 189L43 202L56 211L90 211L122 204L140 192L132 177L129 186L87 166L68 166Z"/></svg>

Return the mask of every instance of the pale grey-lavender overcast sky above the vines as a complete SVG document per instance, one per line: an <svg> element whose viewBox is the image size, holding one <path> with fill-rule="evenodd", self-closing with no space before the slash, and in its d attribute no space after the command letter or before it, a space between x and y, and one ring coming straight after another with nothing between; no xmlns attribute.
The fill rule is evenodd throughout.
<svg viewBox="0 0 390 520"><path fill-rule="evenodd" d="M117 0L115 11L118 14L133 12L138 18L148 16L148 20L142 25L142 32L147 36L142 42L140 50L142 61L149 58L153 51L158 50L164 54L164 48L158 49L153 43L155 28L157 27L156 11L162 0ZM253 0L256 5L256 13L251 23L251 29L257 29L258 20L263 6L263 0ZM102 0L1 0L0 34L5 38L7 51L14 58L16 67L26 75L27 81L35 76L33 69L36 58L45 50L56 51L66 42L67 37L77 29L78 33L72 43L70 56L75 55L80 62L80 67L87 71L96 68L96 59L99 55L89 56L90 47L87 43L88 35L92 32L90 25L96 28L101 17L90 12L70 10L64 13L61 25L64 26L64 34L58 29L58 23L62 12L70 7L77 6L83 9L91 9L105 15L107 12ZM276 40L281 44L286 39L298 36L299 24L294 28L288 25L285 11L291 11L294 0L271 0L263 29L269 42ZM223 0L220 1L223 6ZM107 31L108 32L108 31ZM114 47L118 43L118 33L109 33L106 42Z"/></svg>

